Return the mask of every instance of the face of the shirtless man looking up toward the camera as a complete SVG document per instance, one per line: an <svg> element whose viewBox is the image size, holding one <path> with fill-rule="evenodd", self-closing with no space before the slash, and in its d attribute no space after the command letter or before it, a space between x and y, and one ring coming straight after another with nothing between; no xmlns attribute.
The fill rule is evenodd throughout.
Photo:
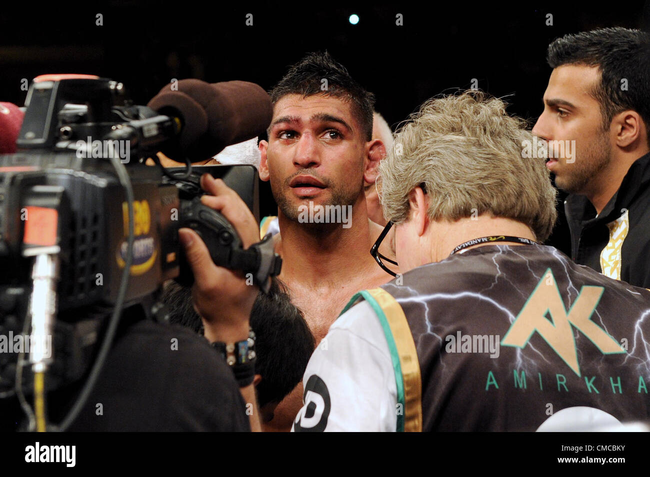
<svg viewBox="0 0 650 477"><path fill-rule="evenodd" d="M372 178L371 143L363 140L350 104L323 95L287 95L276 103L268 143L260 142L260 177L270 180L282 213L298 206L354 205ZM376 167L376 165L374 166Z"/></svg>

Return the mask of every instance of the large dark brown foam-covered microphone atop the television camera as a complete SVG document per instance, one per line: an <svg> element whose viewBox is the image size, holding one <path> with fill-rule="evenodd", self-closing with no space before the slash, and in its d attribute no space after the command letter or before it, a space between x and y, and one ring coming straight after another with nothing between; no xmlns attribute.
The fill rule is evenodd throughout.
<svg viewBox="0 0 650 477"><path fill-rule="evenodd" d="M228 145L263 134L272 118L268 93L247 81L209 84L184 79L164 86L147 106L181 119L179 151L163 152L169 152L170 157L184 154L192 162L211 158Z"/></svg>

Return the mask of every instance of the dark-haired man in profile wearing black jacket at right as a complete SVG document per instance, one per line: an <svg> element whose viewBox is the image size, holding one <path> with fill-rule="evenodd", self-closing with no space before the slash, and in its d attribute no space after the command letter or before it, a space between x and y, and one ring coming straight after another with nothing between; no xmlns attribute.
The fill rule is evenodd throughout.
<svg viewBox="0 0 650 477"><path fill-rule="evenodd" d="M549 45L553 68L533 133L564 202L575 262L650 287L650 51L647 34L606 28Z"/></svg>

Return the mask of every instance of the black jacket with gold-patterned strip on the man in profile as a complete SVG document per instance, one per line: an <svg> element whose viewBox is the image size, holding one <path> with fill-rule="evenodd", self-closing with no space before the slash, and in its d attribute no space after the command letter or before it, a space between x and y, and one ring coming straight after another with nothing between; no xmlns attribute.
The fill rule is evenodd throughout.
<svg viewBox="0 0 650 477"><path fill-rule="evenodd" d="M564 210L576 263L650 288L650 153L632 164L598 217L584 195L569 195Z"/></svg>

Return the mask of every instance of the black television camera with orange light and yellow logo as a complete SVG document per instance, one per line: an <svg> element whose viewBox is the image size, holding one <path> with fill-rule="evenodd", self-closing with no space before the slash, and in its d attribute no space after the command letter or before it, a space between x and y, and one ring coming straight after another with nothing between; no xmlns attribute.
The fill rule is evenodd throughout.
<svg viewBox="0 0 650 477"><path fill-rule="evenodd" d="M135 106L122 84L97 77L39 77L26 104L19 151L0 156L0 398L20 398L42 428L47 391L88 376L65 430L122 310L165 321L162 284L192 283L179 228L196 230L217 265L250 273L263 290L281 260L268 238L244 250L233 226L200 202L208 172L259 219L253 166L161 166L156 153L182 151L182 115Z"/></svg>

